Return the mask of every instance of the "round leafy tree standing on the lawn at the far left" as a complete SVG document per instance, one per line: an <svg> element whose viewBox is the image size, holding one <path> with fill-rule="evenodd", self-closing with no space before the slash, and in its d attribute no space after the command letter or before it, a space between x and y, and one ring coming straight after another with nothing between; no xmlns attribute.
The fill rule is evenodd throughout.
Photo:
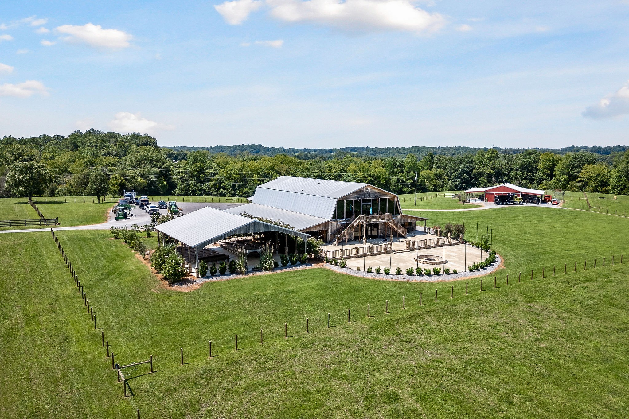
<svg viewBox="0 0 629 419"><path fill-rule="evenodd" d="M35 161L21 161L9 166L5 186L14 195L28 197L42 195L52 180L52 173L46 165Z"/></svg>

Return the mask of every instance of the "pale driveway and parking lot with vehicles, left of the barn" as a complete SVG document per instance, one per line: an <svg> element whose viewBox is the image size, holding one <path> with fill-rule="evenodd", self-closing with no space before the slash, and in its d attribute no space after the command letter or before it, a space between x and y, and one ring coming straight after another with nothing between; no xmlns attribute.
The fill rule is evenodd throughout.
<svg viewBox="0 0 629 419"><path fill-rule="evenodd" d="M178 202L177 203L183 210L184 215L194 212L198 209L204 207L212 207L216 209L227 209L232 207L238 207L243 204L226 204L225 202ZM131 210L132 217L129 217L126 220L118 220L116 221L116 214L110 212L107 222L103 222L101 224L90 224L88 226L72 226L72 227L52 227L55 231L58 230L109 230L109 227L131 227L131 224L138 224L138 226L142 226L143 224L150 224L151 217L147 212L141 210L140 207L135 207L134 210ZM160 214L166 214L166 210L160 210ZM50 227L45 229L21 229L21 230L0 230L0 233L23 233L23 232L33 232L33 231L50 231Z"/></svg>

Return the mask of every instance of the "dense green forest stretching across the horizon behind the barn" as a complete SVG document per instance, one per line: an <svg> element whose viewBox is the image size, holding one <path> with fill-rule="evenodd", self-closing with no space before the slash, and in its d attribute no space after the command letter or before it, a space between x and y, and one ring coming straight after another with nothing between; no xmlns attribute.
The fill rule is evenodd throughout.
<svg viewBox="0 0 629 419"><path fill-rule="evenodd" d="M157 139L146 134L94 129L69 136L4 136L0 193L5 197L119 195L136 190L248 197L257 185L279 175L366 182L394 193L410 193L415 191L417 173L418 192L511 182L523 187L629 194L626 146L322 150L249 144L193 149L160 147ZM27 192L23 184L29 173L37 173L39 183Z"/></svg>

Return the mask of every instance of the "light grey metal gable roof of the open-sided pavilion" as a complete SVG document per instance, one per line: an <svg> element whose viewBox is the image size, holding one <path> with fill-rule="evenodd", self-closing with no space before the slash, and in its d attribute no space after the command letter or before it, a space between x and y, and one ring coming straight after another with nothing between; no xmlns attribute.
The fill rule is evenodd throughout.
<svg viewBox="0 0 629 419"><path fill-rule="evenodd" d="M279 231L307 239L309 234L286 229L268 222L230 214L225 211L204 207L155 226L161 231L192 248L204 247L218 240L234 234L259 233L265 231Z"/></svg>

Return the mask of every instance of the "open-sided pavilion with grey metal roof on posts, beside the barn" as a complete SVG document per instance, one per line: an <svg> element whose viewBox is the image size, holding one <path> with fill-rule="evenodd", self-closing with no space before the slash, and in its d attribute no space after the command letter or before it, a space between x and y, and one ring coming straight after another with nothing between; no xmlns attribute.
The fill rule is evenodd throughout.
<svg viewBox="0 0 629 419"><path fill-rule="evenodd" d="M279 240L279 234L284 234L286 239L288 236L301 237L304 240L304 253L307 251L306 241L310 237L308 233L211 207L204 207L159 224L155 226L155 230L157 230L157 241L160 246L172 243L181 244L182 256L189 263L189 268L194 267L195 270L199 267L199 256L203 257L202 252L205 246L233 236L252 236L247 241L231 243L231 248L243 247L247 254L259 251L264 242L269 242L269 234L263 238L264 233L276 232L273 243ZM256 234L259 235L257 243Z"/></svg>

